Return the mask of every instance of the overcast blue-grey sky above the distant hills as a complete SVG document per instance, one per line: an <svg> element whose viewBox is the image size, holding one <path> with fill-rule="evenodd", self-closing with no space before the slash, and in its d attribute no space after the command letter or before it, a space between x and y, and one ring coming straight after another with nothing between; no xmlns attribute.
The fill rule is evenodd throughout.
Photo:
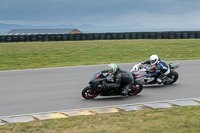
<svg viewBox="0 0 200 133"><path fill-rule="evenodd" d="M0 0L0 23L200 27L200 0Z"/></svg>

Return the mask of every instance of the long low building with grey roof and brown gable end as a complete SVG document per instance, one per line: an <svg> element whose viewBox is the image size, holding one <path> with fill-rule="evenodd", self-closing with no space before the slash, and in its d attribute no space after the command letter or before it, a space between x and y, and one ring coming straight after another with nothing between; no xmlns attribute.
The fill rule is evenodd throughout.
<svg viewBox="0 0 200 133"><path fill-rule="evenodd" d="M42 34L77 34L77 29L13 29L5 35L42 35Z"/></svg>

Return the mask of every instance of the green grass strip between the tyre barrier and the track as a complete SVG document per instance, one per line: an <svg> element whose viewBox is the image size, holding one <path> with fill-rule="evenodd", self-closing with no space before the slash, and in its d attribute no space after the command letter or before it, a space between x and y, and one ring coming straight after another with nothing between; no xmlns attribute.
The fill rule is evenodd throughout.
<svg viewBox="0 0 200 133"><path fill-rule="evenodd" d="M199 39L0 43L0 70L200 59Z"/></svg>

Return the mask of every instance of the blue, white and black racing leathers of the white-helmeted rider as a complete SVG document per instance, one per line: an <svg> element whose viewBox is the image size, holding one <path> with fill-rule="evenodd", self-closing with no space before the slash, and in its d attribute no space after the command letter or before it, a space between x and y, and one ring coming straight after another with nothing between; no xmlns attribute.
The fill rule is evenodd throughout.
<svg viewBox="0 0 200 133"><path fill-rule="evenodd" d="M150 63L150 60L148 60L148 61L142 62L142 64L151 64L151 63ZM158 75L158 77L156 77L156 82L158 84L161 84L165 81L165 78L170 73L169 65L165 63L163 60L159 59L158 63L156 63L154 67L156 68L156 71L152 73L151 75L155 77Z"/></svg>

